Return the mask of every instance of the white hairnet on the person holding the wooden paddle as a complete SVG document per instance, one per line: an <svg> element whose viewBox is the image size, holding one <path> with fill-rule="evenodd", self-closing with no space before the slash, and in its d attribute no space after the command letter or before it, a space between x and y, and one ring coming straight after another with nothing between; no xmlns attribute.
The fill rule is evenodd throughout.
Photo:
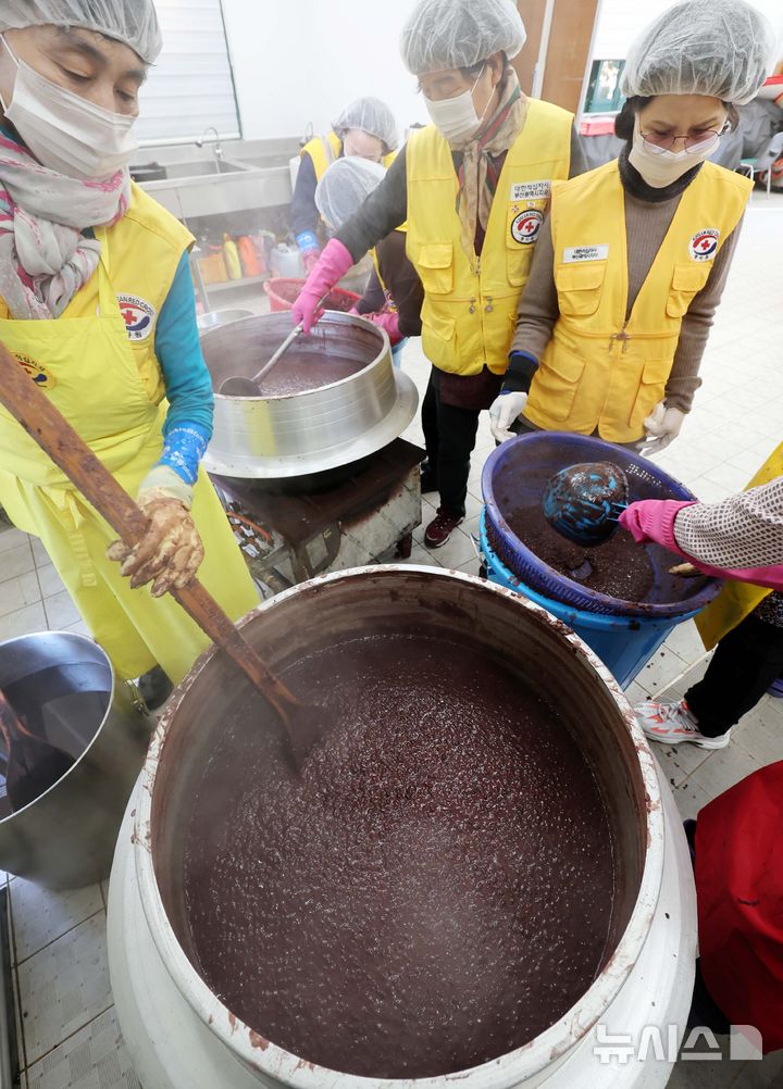
<svg viewBox="0 0 783 1089"><path fill-rule="evenodd" d="M163 45L152 0L2 0L0 33L27 26L97 30L130 46L146 64Z"/></svg>

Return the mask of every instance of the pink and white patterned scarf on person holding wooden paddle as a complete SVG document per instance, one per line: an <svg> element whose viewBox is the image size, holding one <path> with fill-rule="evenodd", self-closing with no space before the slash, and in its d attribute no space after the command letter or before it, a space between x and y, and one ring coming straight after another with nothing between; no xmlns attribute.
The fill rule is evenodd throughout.
<svg viewBox="0 0 783 1089"><path fill-rule="evenodd" d="M100 260L90 227L111 227L131 203L131 178L58 174L0 132L0 297L13 318L59 317Z"/></svg>

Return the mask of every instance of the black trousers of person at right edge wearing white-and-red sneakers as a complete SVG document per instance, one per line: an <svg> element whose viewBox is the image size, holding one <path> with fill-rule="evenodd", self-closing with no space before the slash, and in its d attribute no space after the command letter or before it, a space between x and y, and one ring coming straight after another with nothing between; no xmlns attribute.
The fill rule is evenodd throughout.
<svg viewBox="0 0 783 1089"><path fill-rule="evenodd" d="M720 737L756 707L783 673L783 627L754 613L718 644L704 680L685 699L707 737Z"/></svg>

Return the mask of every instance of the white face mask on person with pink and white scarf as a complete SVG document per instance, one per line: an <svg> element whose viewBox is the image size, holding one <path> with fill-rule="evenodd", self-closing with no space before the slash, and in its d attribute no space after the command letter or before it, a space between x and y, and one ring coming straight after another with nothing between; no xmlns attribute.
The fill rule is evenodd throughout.
<svg viewBox="0 0 783 1089"><path fill-rule="evenodd" d="M11 122L41 166L69 178L111 178L131 161L138 147L132 129L135 118L105 110L79 95L60 87L17 60L11 102L0 95L5 119Z"/></svg>

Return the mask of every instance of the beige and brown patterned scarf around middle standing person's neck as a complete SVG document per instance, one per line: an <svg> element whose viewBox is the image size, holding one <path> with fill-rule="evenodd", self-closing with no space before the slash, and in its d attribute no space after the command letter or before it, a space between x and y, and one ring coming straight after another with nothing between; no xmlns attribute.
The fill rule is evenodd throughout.
<svg viewBox="0 0 783 1089"><path fill-rule="evenodd" d="M477 132L463 140L451 140L462 151L456 211L462 223L462 246L470 262L476 257L476 230L487 230L500 171L494 156L507 151L525 126L529 99L523 94L514 69L509 65L500 84L500 106Z"/></svg>

